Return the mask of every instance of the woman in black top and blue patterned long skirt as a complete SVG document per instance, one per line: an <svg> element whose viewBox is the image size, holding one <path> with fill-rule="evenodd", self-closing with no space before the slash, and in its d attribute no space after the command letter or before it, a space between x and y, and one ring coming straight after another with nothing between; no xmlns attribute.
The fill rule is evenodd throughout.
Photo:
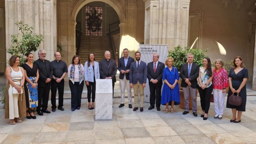
<svg viewBox="0 0 256 144"><path fill-rule="evenodd" d="M28 119L36 119L34 108L38 106L37 81L39 79L38 65L33 63L34 55L30 52L26 54L26 63L22 64L25 75L25 96L26 112Z"/></svg>

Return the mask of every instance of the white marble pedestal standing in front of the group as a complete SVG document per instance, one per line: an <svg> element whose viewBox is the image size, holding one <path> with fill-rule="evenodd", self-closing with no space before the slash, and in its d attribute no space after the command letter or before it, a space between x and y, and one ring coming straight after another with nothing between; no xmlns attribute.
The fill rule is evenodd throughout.
<svg viewBox="0 0 256 144"><path fill-rule="evenodd" d="M96 79L95 120L112 120L112 80Z"/></svg>

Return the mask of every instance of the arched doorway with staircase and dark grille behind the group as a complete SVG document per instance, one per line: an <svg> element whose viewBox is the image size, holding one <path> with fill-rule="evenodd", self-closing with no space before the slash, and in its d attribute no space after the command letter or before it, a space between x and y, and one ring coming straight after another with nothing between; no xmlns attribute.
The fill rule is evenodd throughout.
<svg viewBox="0 0 256 144"><path fill-rule="evenodd" d="M100 16L102 21L102 24L100 24L101 27L99 28L100 32L95 29L88 30L90 29L88 28L90 27L90 24L88 24L88 17L92 16L92 9L97 11L96 17L98 17L98 14L102 14ZM99 10L102 11L98 12ZM106 13L113 14L114 17L117 18L110 18L106 16ZM102 59L102 52L105 50L109 50L111 52L112 58L116 59L116 61L118 60L120 38L123 34L125 34L124 26L126 18L122 6L116 0L80 0L78 3L76 3L74 9L72 10L71 19L72 22L76 23L74 24L74 30L76 32L76 54L81 56L82 62L86 61L89 52L97 53L98 58ZM121 27L119 28L120 25ZM114 32L115 29L118 29L118 33ZM87 41L87 43L83 41ZM107 48L107 41L109 42L110 48ZM97 45L99 43L101 43L101 45ZM100 47L101 50L96 50L96 47ZM93 51L90 49L93 49Z"/></svg>

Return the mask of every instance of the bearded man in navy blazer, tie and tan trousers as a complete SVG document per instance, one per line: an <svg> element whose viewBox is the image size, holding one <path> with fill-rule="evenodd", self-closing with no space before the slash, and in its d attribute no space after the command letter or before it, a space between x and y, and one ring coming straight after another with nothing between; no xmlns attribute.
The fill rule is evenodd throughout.
<svg viewBox="0 0 256 144"><path fill-rule="evenodd" d="M130 66L130 87L134 90L134 109L138 110L138 93L140 90L140 112L143 112L144 88L147 82L147 64L140 60L140 52L135 52L136 61Z"/></svg>

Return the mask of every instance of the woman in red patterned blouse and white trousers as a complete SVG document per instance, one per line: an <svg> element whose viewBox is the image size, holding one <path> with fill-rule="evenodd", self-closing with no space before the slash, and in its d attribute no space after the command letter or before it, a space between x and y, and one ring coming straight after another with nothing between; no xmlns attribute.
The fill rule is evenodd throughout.
<svg viewBox="0 0 256 144"><path fill-rule="evenodd" d="M212 78L214 110L216 112L214 118L219 120L222 119L226 87L228 87L228 73L225 68L222 68L223 65L224 62L221 59L215 61Z"/></svg>

